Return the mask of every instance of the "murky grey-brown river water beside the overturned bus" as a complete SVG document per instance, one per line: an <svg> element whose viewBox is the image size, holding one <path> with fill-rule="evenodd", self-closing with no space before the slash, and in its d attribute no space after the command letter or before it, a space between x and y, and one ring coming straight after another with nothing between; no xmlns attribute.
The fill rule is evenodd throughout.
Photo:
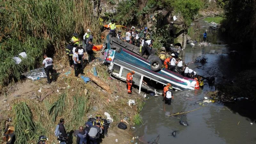
<svg viewBox="0 0 256 144"><path fill-rule="evenodd" d="M203 34L207 24L201 21L200 27ZM180 56L185 63L188 63L203 54L208 58L206 64L190 63L188 67L194 69L199 75L214 76L216 83L223 81L222 76L232 79L243 61L237 62L237 58L229 54L233 48L221 39L218 32L208 31L208 41L212 40L218 44L196 46L196 48L188 46ZM198 68L198 66L202 67ZM144 141L138 141L139 143L149 142L150 144L158 135L160 139L157 143L159 144L256 143L256 123L232 110L229 111L224 104L219 102L206 104L201 109L187 113L188 126L179 124L180 116L168 116L172 113L186 112L201 107L195 105L195 102L202 100L205 92L214 90L214 86L205 85L198 91L176 91L171 105L164 104L162 96L149 96L150 98L146 100L140 113L143 125L136 126L133 134L138 135ZM172 136L173 131L177 131L176 137Z"/></svg>

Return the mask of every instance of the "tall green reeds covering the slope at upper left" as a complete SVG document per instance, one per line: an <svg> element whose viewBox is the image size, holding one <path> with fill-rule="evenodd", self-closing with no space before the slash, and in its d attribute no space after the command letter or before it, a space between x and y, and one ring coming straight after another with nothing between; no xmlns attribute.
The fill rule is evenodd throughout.
<svg viewBox="0 0 256 144"><path fill-rule="evenodd" d="M100 31L90 0L5 0L0 7L0 85L40 66L43 52L61 58L72 33L82 35L88 26ZM27 59L16 65L12 57L24 51Z"/></svg>

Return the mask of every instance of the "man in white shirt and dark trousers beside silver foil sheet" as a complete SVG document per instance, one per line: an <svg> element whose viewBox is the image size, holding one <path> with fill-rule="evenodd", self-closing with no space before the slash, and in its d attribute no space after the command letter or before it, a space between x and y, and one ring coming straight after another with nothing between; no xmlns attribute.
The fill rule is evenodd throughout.
<svg viewBox="0 0 256 144"><path fill-rule="evenodd" d="M52 79L54 79L52 64L53 64L52 58L48 58L47 54L44 54L43 66L44 66L44 70L45 70L45 73L46 73L46 76L47 76L48 84L51 84L50 72L51 72L51 75L52 75Z"/></svg>

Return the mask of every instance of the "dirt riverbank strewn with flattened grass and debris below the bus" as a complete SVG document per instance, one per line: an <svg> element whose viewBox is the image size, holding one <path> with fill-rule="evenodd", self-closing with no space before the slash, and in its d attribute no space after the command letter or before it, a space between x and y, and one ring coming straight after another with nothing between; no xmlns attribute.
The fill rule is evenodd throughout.
<svg viewBox="0 0 256 144"><path fill-rule="evenodd" d="M54 65L58 74L56 82L47 84L45 78L36 81L24 79L5 87L0 96L0 101L3 103L0 106L1 129L5 128L4 124L8 118L12 119L10 124L15 127L17 124L26 123L26 121L16 121L18 116L15 115L17 110L23 111L18 109L18 106L25 102L29 109L28 113L32 116L31 121L35 124L35 128L31 129L32 133L34 132L31 135L33 138L26 138L29 143L35 143L40 135L46 135L49 138L48 143L57 143L54 129L60 118L66 120L66 129L70 132L84 125L89 117L100 114L103 118L107 118L104 116L105 112L113 118L113 123L108 130L109 136L102 139L102 143L114 143L116 139L121 143L129 142L132 137L130 126L140 118L138 113L144 104L143 93L137 94L138 90L134 89L132 95L127 94L126 84L111 78L102 62L88 64L84 73L89 71L93 73L93 67L96 68L98 78L110 87L109 91L93 81L85 84L82 78L74 76L74 70L67 67L66 61ZM49 93L51 94L47 95ZM42 98L44 98L42 102L39 101ZM135 104L128 106L129 99L135 100ZM52 114L49 115L49 112ZM121 130L117 128L117 124L125 117L129 123L128 129ZM17 130L19 133L16 132L16 137L26 132L26 129ZM76 137L73 137L74 142L75 140Z"/></svg>

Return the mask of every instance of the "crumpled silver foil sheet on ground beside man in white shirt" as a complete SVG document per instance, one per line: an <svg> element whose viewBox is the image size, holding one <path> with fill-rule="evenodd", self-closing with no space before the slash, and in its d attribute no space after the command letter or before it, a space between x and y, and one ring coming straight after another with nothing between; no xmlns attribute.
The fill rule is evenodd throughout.
<svg viewBox="0 0 256 144"><path fill-rule="evenodd" d="M27 78L30 78L33 81L38 80L39 78L47 77L44 68L33 69L29 72L22 73L21 75L26 76Z"/></svg>

